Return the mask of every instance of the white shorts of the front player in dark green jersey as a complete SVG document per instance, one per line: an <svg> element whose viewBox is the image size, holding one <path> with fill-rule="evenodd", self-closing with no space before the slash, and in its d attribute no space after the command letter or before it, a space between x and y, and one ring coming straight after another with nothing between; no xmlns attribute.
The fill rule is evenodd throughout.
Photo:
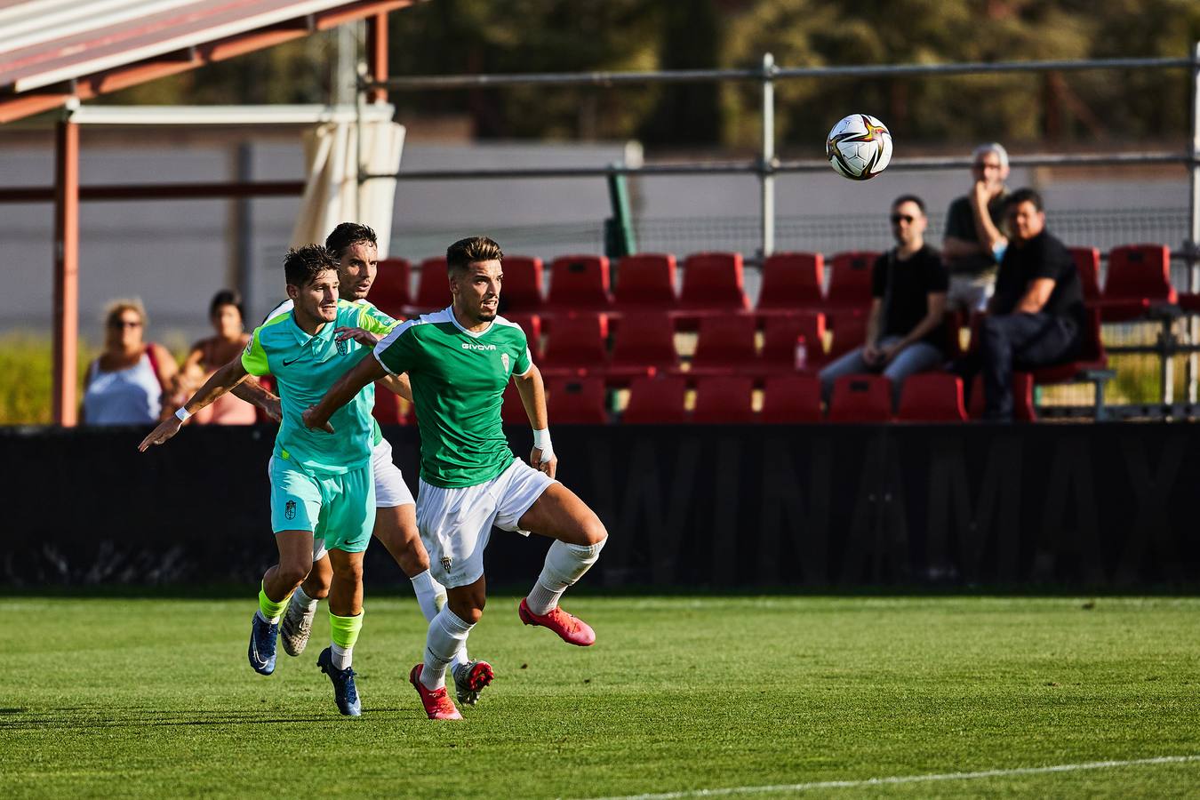
<svg viewBox="0 0 1200 800"><path fill-rule="evenodd" d="M454 588L482 577L492 527L518 530L521 516L557 481L514 458L487 483L454 489L419 483L416 528L430 552L430 572L442 585Z"/></svg>

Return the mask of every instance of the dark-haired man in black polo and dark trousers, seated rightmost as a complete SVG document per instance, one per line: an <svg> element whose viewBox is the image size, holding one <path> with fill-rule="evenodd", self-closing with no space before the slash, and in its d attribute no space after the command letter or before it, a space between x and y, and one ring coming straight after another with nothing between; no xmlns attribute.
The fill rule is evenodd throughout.
<svg viewBox="0 0 1200 800"><path fill-rule="evenodd" d="M1079 349L1085 309L1075 261L1045 229L1042 197L1031 188L1013 192L1004 219L1008 248L968 369L984 371L985 417L1012 421L1014 367L1070 360Z"/></svg>

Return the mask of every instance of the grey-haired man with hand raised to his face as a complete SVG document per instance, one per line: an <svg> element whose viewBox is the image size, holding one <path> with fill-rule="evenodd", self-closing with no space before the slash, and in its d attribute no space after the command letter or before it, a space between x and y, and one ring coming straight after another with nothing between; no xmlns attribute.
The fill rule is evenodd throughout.
<svg viewBox="0 0 1200 800"><path fill-rule="evenodd" d="M947 307L970 313L988 306L996 285L996 265L1008 241L1001 231L1008 178L1008 152L995 142L972 154L971 192L946 212L942 258L950 272Z"/></svg>

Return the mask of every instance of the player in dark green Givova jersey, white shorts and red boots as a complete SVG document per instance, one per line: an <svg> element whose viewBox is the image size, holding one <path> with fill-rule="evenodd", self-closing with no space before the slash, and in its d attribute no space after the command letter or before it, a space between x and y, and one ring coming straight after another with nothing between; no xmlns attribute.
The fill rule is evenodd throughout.
<svg viewBox="0 0 1200 800"><path fill-rule="evenodd" d="M491 239L451 245L451 306L394 329L376 347L373 361L360 361L304 414L319 435L364 386L388 373L408 374L421 432L416 524L431 571L448 594L430 624L425 661L409 675L431 720L462 718L446 696L445 670L484 612L484 548L493 525L556 540L521 601L521 620L548 627L570 644L595 642L592 628L558 601L595 563L608 534L578 497L553 480L558 459L541 374L521 327L497 315L502 259ZM500 422L510 379L534 428L529 464L514 457Z"/></svg>

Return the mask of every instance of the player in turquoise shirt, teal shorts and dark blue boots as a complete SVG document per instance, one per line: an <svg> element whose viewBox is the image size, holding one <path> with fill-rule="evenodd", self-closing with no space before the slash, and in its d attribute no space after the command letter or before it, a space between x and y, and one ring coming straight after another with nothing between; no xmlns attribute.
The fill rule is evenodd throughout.
<svg viewBox="0 0 1200 800"><path fill-rule="evenodd" d="M184 420L247 375L275 377L283 408L270 463L271 528L280 563L263 576L259 608L251 624L250 663L264 675L275 670L280 615L312 569L314 539L322 539L334 571L329 593L332 643L317 664L334 682L338 710L358 716L361 704L350 663L362 627L362 553L374 525L374 389L367 386L348 398L348 404L328 420L325 431L310 431L301 414L370 353L354 338L338 337L336 329L382 336L395 321L373 306L338 300L337 261L319 245L289 251L283 266L293 311L256 329L241 357L214 373L139 449L170 439Z"/></svg>

